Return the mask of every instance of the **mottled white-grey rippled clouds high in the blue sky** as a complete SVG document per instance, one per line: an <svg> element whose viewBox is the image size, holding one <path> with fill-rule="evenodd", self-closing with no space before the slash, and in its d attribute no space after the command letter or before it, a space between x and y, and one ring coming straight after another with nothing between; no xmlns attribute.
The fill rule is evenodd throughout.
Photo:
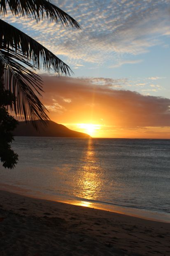
<svg viewBox="0 0 170 256"><path fill-rule="evenodd" d="M165 45L163 38L170 34L169 0L59 0L54 4L77 19L81 31L62 28L44 19L7 21L64 57L72 66L79 62L102 64L114 59L114 66L138 63L120 61L123 55L139 55L154 45ZM78 66L75 66L78 67Z"/></svg>

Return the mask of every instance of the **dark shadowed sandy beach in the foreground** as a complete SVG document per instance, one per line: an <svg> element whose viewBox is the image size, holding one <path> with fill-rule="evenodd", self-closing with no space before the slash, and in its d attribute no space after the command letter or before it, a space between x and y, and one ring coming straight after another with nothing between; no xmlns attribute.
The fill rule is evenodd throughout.
<svg viewBox="0 0 170 256"><path fill-rule="evenodd" d="M170 223L0 191L1 256L170 255Z"/></svg>

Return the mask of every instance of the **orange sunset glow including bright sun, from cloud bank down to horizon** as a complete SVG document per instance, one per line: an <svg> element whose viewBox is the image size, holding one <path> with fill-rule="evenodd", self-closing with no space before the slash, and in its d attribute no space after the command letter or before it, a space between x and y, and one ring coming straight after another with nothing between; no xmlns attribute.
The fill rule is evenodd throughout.
<svg viewBox="0 0 170 256"><path fill-rule="evenodd" d="M91 137L170 139L170 99L43 76L49 118ZM56 86L57 84L57 86Z"/></svg>

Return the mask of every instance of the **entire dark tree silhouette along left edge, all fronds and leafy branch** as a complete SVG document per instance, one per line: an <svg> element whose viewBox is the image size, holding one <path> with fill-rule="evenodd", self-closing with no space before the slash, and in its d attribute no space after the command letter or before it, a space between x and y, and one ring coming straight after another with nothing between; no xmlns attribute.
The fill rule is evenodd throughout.
<svg viewBox="0 0 170 256"><path fill-rule="evenodd" d="M49 0L1 0L0 14L34 19L50 19L62 26L79 29L80 26L67 13ZM53 69L58 75L70 76L70 67L43 45L19 29L0 19L0 159L6 168L14 168L18 155L10 147L14 139L11 131L17 121L9 115L7 107L37 129L37 119L44 125L49 120L46 108L40 102L42 80L33 71Z"/></svg>

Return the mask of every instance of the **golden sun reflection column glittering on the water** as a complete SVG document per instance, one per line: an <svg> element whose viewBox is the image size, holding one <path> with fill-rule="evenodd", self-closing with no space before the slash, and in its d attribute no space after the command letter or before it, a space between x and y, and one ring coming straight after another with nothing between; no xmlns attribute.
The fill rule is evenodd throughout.
<svg viewBox="0 0 170 256"><path fill-rule="evenodd" d="M95 155L93 141L89 139L87 150L80 159L80 167L75 179L74 195L82 199L100 200L104 183L103 173L100 162ZM82 206L90 206L90 204L89 201L80 203Z"/></svg>

